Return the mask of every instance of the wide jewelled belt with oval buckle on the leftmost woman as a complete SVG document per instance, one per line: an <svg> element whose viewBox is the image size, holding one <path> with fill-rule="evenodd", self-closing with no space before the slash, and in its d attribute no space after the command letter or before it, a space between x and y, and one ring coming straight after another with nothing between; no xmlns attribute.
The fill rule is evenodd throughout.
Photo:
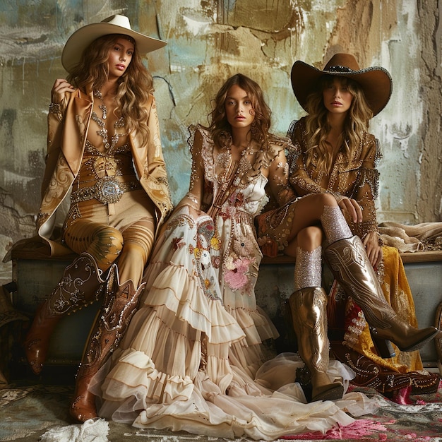
<svg viewBox="0 0 442 442"><path fill-rule="evenodd" d="M71 193L71 203L80 203L95 198L103 204L117 203L123 193L141 189L139 181L121 183L115 177L100 178L93 186L83 187Z"/></svg>

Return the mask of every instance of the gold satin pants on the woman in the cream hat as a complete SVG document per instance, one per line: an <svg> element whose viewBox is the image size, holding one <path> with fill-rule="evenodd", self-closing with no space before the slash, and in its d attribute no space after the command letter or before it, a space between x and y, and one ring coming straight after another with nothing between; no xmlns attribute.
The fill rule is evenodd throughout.
<svg viewBox="0 0 442 442"><path fill-rule="evenodd" d="M155 205L147 193L129 191L117 203L92 199L71 205L64 223L63 241L73 251L88 252L106 271L117 263L120 284L138 287L155 236Z"/></svg>

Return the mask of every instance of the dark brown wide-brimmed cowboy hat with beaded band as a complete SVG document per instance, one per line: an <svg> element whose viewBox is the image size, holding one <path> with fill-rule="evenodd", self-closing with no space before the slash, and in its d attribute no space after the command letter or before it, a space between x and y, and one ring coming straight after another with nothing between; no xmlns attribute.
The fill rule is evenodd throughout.
<svg viewBox="0 0 442 442"><path fill-rule="evenodd" d="M364 90L364 95L373 115L386 107L393 90L390 73L381 66L359 68L351 54L335 54L323 70L310 66L304 61L295 61L292 67L292 88L299 104L306 109L307 97L313 92L323 75L351 78Z"/></svg>

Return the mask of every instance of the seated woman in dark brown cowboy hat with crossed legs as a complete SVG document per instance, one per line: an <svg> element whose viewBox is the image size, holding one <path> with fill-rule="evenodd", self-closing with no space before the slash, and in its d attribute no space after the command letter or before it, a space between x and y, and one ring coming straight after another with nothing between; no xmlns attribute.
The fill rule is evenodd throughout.
<svg viewBox="0 0 442 442"><path fill-rule="evenodd" d="M361 69L354 56L335 54L323 70L296 61L292 86L308 112L292 123L288 133L294 144L289 153L290 182L299 198L260 215L258 237L264 253L296 256L295 291L289 305L299 354L311 372L312 400L338 399L342 386L326 373L328 297L322 287L322 256L341 287L334 292L348 297L350 308L357 311L347 324L354 332L346 335L350 344L361 335L365 320L381 357L390 357L386 340L411 352L434 338L438 329L415 328L414 314L410 315L413 325L400 318L386 301L374 270L383 262L374 205L381 150L368 128L371 117L390 99L390 74L381 67ZM397 251L396 255L399 258ZM411 294L408 301L413 307ZM372 351L367 354L376 358ZM376 362L382 363L381 357ZM359 367L357 374L363 371Z"/></svg>

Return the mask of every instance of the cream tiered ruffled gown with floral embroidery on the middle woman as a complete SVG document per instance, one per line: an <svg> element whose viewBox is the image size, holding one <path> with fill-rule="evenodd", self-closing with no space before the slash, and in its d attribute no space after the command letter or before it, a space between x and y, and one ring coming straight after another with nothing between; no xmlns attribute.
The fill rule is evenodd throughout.
<svg viewBox="0 0 442 442"><path fill-rule="evenodd" d="M296 368L304 365L296 354L263 363L261 342L277 336L253 291L261 261L253 217L265 203L267 179L249 171L235 180L244 170L230 161L223 179L237 185L222 193L222 158L214 157L208 133L197 130L204 142L193 156L203 158L204 179L213 186L213 216L195 220L185 205L163 229L139 309L112 362L95 378L100 417L141 428L271 440L350 424L345 411L373 412L356 393L306 404L294 383ZM284 148L278 140L256 162L273 161ZM352 374L333 362L330 376L347 386Z"/></svg>

